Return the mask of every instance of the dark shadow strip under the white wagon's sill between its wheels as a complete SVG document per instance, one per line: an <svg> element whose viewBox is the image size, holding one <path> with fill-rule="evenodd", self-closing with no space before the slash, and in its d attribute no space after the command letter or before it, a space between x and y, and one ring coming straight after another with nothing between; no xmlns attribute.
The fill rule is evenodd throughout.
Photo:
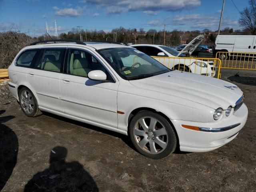
<svg viewBox="0 0 256 192"><path fill-rule="evenodd" d="M91 130L95 130L95 131L98 131L98 132L101 132L101 133L104 133L104 134L108 134L108 135L112 135L114 137L120 138L126 145L128 145L130 148L132 148L133 150L138 152L136 150L136 148L133 146L129 136L126 136L124 134L120 134L118 132L110 131L110 130L107 130L107 129L104 129L104 128L100 128L100 127L97 127L97 126L94 126L94 125L86 124L86 123L83 123L83 122L79 122L79 121L76 121L76 120L72 120L72 119L62 117L62 116L51 114L51 113L48 113L48 112L43 112L43 114L46 115L46 116L64 121L64 122L72 123L72 124L75 124L75 125L81 126L81 127L86 127L86 128L91 129Z"/></svg>

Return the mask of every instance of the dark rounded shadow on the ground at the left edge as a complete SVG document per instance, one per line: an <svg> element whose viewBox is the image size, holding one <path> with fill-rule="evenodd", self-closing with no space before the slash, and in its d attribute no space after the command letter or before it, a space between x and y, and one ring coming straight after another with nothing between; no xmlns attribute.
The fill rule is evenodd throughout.
<svg viewBox="0 0 256 192"><path fill-rule="evenodd" d="M5 110L0 110L0 115ZM8 126L2 124L14 118L14 116L0 117L0 191L12 175L17 162L18 137Z"/></svg>

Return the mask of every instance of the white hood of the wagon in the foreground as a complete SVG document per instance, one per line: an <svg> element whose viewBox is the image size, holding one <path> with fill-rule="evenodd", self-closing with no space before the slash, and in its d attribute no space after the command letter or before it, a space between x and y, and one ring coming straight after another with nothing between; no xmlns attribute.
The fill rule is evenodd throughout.
<svg viewBox="0 0 256 192"><path fill-rule="evenodd" d="M131 80L130 83L141 89L159 94L183 98L203 104L213 109L234 107L243 92L234 84L203 75L174 70L168 73ZM173 102L173 101L172 101Z"/></svg>

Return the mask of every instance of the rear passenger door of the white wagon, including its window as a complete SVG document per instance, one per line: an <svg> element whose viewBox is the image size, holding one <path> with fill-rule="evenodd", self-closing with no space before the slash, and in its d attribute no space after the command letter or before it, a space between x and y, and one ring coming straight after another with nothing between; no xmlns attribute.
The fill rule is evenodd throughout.
<svg viewBox="0 0 256 192"><path fill-rule="evenodd" d="M63 112L59 79L63 71L66 47L45 48L27 73L42 108Z"/></svg>

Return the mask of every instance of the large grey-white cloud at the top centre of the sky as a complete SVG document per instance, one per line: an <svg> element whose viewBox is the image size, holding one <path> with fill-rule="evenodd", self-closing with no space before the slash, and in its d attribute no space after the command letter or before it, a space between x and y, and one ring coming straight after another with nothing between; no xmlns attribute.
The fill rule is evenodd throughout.
<svg viewBox="0 0 256 192"><path fill-rule="evenodd" d="M83 0L80 0L80 2ZM108 14L120 14L130 11L179 11L191 10L201 4L200 0L86 0L87 3L106 7Z"/></svg>

